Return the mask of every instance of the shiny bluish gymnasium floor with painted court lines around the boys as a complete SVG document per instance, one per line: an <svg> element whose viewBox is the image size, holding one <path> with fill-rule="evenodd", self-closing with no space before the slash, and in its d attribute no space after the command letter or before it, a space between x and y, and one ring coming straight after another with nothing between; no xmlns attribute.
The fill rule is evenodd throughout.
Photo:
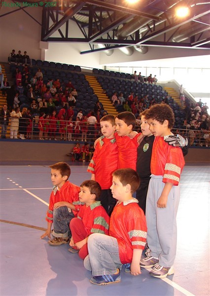
<svg viewBox="0 0 210 296"><path fill-rule="evenodd" d="M182 173L175 274L162 280L143 268L138 277L123 269L121 283L96 286L68 245L39 239L47 224L52 163L16 164L0 166L0 296L210 295L209 166L185 166ZM89 179L86 163L71 164L72 183Z"/></svg>

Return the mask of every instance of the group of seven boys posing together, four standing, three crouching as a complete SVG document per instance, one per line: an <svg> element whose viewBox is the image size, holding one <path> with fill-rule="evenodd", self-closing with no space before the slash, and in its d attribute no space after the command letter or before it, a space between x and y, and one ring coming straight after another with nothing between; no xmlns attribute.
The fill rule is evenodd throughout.
<svg viewBox="0 0 210 296"><path fill-rule="evenodd" d="M92 271L93 284L120 282L123 264L132 275L139 275L140 267L152 267L150 274L159 278L174 273L179 179L184 166L177 146L185 143L171 133L175 118L168 105L154 105L141 114L141 121L142 134L137 134L132 131L136 118L131 112L101 119L103 136L88 166L91 180L80 189L68 181L70 168L61 169L67 164L51 166L54 187L48 228L41 238L48 236L50 245L70 240L69 251L79 252L85 268ZM141 259L146 240L149 250Z"/></svg>

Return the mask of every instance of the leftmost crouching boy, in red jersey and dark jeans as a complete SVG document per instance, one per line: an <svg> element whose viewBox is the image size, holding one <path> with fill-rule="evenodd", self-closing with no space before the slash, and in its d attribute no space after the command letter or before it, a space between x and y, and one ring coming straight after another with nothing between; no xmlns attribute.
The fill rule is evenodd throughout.
<svg viewBox="0 0 210 296"><path fill-rule="evenodd" d="M74 214L77 212L71 211L70 203L78 201L79 186L76 186L68 181L70 177L70 166L66 162L58 162L50 166L51 180L53 191L50 195L49 208L47 210L47 230L40 238L48 237L48 243L52 246L67 244L69 242L70 229L69 223ZM51 240L50 233L52 223L54 226L53 236Z"/></svg>

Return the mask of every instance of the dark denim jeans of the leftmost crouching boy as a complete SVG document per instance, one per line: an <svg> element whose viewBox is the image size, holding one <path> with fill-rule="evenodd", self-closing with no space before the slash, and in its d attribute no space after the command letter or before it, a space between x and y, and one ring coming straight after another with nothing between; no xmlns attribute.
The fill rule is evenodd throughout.
<svg viewBox="0 0 210 296"><path fill-rule="evenodd" d="M74 218L73 213L69 212L67 207L60 207L53 210L53 236L55 237L70 237L70 221Z"/></svg>

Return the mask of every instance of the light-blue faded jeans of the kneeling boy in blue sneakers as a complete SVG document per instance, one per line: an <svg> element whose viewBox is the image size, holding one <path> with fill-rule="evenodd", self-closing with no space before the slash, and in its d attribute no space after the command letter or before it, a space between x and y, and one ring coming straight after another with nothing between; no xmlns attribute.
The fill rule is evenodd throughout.
<svg viewBox="0 0 210 296"><path fill-rule="evenodd" d="M93 276L113 274L122 266L115 237L92 233L88 238L88 252Z"/></svg>

